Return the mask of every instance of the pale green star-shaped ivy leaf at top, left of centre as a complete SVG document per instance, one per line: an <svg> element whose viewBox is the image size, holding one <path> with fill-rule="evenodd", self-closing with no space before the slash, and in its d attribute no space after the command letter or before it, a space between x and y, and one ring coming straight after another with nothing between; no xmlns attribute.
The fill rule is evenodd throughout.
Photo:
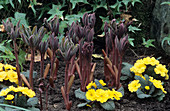
<svg viewBox="0 0 170 111"><path fill-rule="evenodd" d="M51 14L51 16L48 18L47 21L51 20L52 18L54 18L55 15L57 15L59 18L63 18L63 12L64 11L60 11L61 9L61 5L52 5L52 9L48 12L48 14Z"/></svg>

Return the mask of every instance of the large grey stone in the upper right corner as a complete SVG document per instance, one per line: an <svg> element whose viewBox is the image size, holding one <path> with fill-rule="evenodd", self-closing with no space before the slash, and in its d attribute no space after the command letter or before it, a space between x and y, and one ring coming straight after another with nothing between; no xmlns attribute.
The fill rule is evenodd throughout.
<svg viewBox="0 0 170 111"><path fill-rule="evenodd" d="M152 12L151 37L158 41L159 46L161 46L162 40L170 34L170 6L168 4L161 5L162 2L167 1L156 0ZM163 44L163 50L170 56L170 45L167 41Z"/></svg>

